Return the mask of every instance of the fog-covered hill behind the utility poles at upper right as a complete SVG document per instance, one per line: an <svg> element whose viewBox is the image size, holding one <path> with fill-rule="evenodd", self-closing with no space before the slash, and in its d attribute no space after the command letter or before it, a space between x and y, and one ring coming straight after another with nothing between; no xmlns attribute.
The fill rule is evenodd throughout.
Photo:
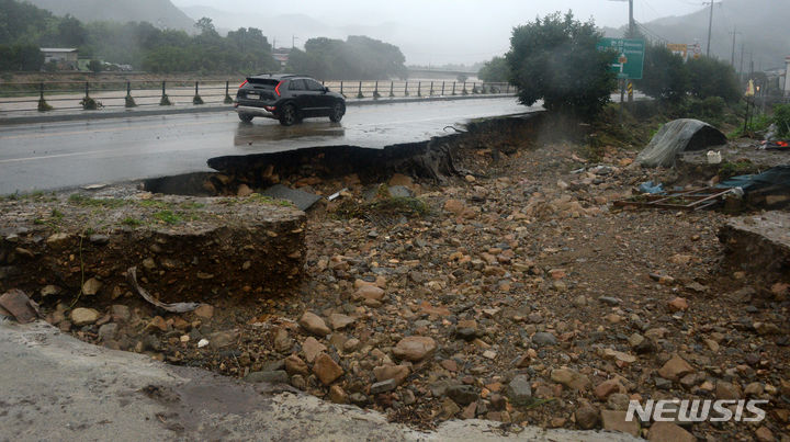
<svg viewBox="0 0 790 442"><path fill-rule="evenodd" d="M710 8L682 15L669 16L643 23L640 29L651 39L669 43L693 44L699 42L702 54L708 44L708 22ZM790 1L776 0L724 0L713 7L713 29L711 35L711 55L730 61L732 57L732 31L736 36L735 68L741 66L741 44L745 55L743 69L749 69L749 52L754 53L755 70L767 70L785 66L785 57L790 56ZM621 36L620 30L605 29L609 36Z"/></svg>

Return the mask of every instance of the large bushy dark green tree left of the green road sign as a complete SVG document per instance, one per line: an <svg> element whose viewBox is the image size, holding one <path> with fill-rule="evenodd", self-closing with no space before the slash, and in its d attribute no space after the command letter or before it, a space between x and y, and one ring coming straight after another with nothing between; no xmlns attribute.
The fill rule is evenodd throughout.
<svg viewBox="0 0 790 442"><path fill-rule="evenodd" d="M611 54L596 49L601 37L592 21L582 23L571 12L514 29L505 58L521 104L543 99L549 111L594 118L617 86Z"/></svg>

